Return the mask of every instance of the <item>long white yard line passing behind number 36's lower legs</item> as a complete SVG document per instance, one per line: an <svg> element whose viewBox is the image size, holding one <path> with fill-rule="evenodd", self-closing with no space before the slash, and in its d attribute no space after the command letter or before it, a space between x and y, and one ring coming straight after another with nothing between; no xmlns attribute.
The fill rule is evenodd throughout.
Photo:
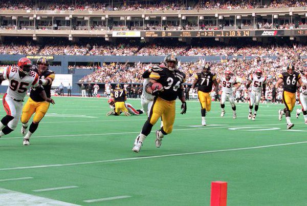
<svg viewBox="0 0 307 206"><path fill-rule="evenodd" d="M304 123L304 122L299 122L299 123ZM299 124L296 123L296 124ZM274 123L271 125L286 125L286 123ZM240 127L250 127L251 125L245 125L245 126L240 126ZM253 127L256 126L270 126L270 125L253 125ZM183 127L183 126L181 126ZM187 127L187 126L186 126ZM174 129L173 131L185 131L185 130L209 130L209 129L217 129L217 128L233 128L233 127L237 127L235 125L233 126L225 126L225 127L207 127L207 126L202 126L199 128L188 128L188 129ZM156 132L156 131L151 131L151 132ZM99 133L99 134L67 134L67 135L46 135L46 136L34 136L31 137L33 138L45 138L45 137L81 137L81 136L104 136L104 135L121 135L121 134L139 134L140 131L137 132L117 132L117 133ZM4 139L20 139L19 137L5 137L2 138L2 140Z"/></svg>

